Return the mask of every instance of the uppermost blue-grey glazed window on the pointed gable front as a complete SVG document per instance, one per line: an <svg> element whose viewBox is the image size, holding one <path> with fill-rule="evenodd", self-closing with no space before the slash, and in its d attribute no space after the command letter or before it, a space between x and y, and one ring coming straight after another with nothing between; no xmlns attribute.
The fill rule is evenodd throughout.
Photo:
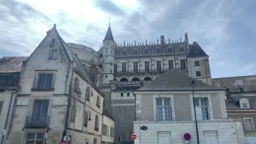
<svg viewBox="0 0 256 144"><path fill-rule="evenodd" d="M53 88L53 74L39 74L38 89L52 89Z"/></svg>

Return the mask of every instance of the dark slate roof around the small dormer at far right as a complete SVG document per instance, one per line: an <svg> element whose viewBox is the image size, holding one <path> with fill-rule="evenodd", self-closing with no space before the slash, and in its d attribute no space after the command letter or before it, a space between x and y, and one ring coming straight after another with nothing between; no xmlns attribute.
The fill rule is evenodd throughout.
<svg viewBox="0 0 256 144"><path fill-rule="evenodd" d="M239 107L239 100L241 98L247 98L249 100L250 109L256 109L256 105L254 103L254 101L256 101L256 96L231 97L230 101L227 101L227 100L225 101L226 109L227 110L248 110L248 109L241 109Z"/></svg>

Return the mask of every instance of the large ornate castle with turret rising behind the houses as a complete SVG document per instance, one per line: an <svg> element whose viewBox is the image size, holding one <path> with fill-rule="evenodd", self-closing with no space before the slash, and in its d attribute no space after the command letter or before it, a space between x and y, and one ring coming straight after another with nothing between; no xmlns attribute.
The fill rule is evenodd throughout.
<svg viewBox="0 0 256 144"><path fill-rule="evenodd" d="M104 107L115 119L115 143L132 143L135 121L133 91L170 69L212 85L208 55L197 42L165 39L145 43L117 44L110 25L103 46L97 52L83 45L67 43L88 71L92 81L104 94Z"/></svg>

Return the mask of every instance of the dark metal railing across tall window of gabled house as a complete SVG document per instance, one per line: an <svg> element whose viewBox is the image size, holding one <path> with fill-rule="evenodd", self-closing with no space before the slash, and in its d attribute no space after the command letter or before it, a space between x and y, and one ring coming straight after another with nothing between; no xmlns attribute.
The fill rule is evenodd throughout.
<svg viewBox="0 0 256 144"><path fill-rule="evenodd" d="M26 127L47 127L50 123L50 116L32 117L26 116Z"/></svg>

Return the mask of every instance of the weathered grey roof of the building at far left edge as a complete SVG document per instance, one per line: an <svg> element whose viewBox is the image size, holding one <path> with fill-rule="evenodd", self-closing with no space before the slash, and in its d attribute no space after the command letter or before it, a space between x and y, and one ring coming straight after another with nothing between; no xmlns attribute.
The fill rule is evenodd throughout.
<svg viewBox="0 0 256 144"><path fill-rule="evenodd" d="M28 57L3 57L0 59L0 73L20 72L22 62Z"/></svg>

